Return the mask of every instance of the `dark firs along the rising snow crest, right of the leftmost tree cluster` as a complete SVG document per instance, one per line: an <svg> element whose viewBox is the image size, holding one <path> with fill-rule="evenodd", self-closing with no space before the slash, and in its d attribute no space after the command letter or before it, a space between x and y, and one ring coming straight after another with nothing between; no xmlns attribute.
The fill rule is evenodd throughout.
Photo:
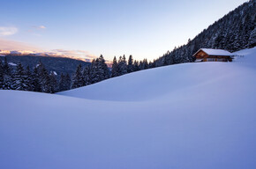
<svg viewBox="0 0 256 169"><path fill-rule="evenodd" d="M101 55L99 58L94 59L91 65L88 65L85 68L82 68L79 64L75 74L72 76L71 89L101 82L110 77L119 77L127 73L147 70L154 67L154 62L147 62L147 59L144 59L143 61L133 61L132 55L130 55L128 61L126 61L126 57L123 55L119 57L118 61L115 56L112 66L109 69Z"/></svg>

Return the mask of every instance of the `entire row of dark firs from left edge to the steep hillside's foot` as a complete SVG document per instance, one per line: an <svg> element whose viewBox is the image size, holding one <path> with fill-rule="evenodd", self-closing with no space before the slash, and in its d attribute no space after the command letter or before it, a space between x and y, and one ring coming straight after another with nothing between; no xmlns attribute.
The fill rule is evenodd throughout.
<svg viewBox="0 0 256 169"><path fill-rule="evenodd" d="M0 89L48 93L62 92L94 84L110 77L118 77L126 73L153 67L154 63L147 62L147 59L133 62L132 55L130 55L127 62L125 55L123 55L119 57L118 61L115 56L112 68L109 69L101 55L94 59L90 65L82 67L79 64L72 76L61 74L58 77L54 71L47 70L41 61L31 70L29 66L24 68L21 63L10 66L7 57L4 57L4 62L0 60Z"/></svg>

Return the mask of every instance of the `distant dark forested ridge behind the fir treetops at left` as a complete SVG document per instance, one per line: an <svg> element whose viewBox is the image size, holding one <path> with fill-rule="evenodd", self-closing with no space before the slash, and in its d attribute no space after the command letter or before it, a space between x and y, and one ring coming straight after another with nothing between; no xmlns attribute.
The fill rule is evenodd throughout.
<svg viewBox="0 0 256 169"><path fill-rule="evenodd" d="M91 62L84 62L67 57L56 57L56 56L35 56L35 55L0 55L0 60L4 61L4 57L11 66L15 66L19 62L24 66L29 66L33 69L39 61L41 61L45 68L49 71L55 71L57 76L61 73L74 74L78 65L81 64L83 67L90 65Z"/></svg>

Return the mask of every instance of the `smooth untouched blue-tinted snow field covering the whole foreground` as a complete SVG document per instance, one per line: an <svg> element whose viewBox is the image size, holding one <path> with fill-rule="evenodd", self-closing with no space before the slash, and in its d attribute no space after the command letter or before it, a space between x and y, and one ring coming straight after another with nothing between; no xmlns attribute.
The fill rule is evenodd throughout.
<svg viewBox="0 0 256 169"><path fill-rule="evenodd" d="M0 91L0 168L256 168L256 48L69 92Z"/></svg>

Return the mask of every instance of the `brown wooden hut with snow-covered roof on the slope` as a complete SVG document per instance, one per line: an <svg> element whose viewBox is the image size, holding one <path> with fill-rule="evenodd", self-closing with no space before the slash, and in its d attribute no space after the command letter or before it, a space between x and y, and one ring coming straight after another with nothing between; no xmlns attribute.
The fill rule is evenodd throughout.
<svg viewBox="0 0 256 169"><path fill-rule="evenodd" d="M232 62L232 54L222 49L200 48L193 56L195 62Z"/></svg>

